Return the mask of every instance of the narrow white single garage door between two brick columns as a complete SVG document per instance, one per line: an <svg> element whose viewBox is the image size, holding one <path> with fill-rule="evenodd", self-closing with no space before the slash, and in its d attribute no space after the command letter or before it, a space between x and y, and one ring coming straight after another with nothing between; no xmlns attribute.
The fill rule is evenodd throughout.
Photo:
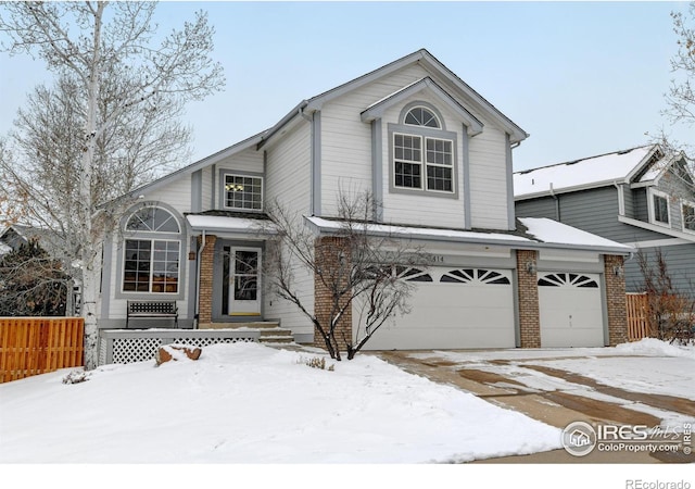
<svg viewBox="0 0 695 489"><path fill-rule="evenodd" d="M595 274L539 274L541 347L603 347L601 280Z"/></svg>

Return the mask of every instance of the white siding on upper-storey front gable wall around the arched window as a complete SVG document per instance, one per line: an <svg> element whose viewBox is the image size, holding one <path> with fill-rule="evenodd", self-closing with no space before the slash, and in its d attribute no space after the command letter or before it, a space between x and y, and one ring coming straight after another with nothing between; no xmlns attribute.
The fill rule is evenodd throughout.
<svg viewBox="0 0 695 489"><path fill-rule="evenodd" d="M395 91L431 76L453 89L446 80L409 66L386 79L377 80L325 104L321 109L321 215L336 215L340 191L371 190L371 126L361 113ZM403 106L416 100L434 105L444 117L447 131L456 133L457 198L390 192L393 178L389 164L388 124L397 124ZM459 100L484 125L483 133L469 139L469 183L471 223L465 223L463 122L437 97L420 92L388 110L382 120L382 200L384 222L462 228L465 225L486 229L508 229L507 162L504 130L471 110L470 101Z"/></svg>

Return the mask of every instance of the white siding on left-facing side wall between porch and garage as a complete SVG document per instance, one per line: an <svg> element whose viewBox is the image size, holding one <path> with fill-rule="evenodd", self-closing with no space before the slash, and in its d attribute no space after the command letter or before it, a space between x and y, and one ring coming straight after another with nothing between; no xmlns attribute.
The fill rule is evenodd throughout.
<svg viewBox="0 0 695 489"><path fill-rule="evenodd" d="M285 135L267 149L265 178L266 205L276 201L283 209L307 215L311 200L311 126L302 123L293 131ZM314 310L314 277L295 265L295 286L307 311ZM280 318L282 327L294 334L313 334L311 322L296 305L274 297L273 291L264 294L264 315Z"/></svg>

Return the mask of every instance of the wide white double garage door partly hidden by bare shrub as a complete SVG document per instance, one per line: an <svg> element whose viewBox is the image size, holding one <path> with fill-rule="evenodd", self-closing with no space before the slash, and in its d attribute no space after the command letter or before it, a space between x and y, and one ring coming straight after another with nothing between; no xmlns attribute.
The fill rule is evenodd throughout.
<svg viewBox="0 0 695 489"><path fill-rule="evenodd" d="M514 296L507 269L409 268L415 286L410 313L389 319L367 342L369 350L514 348ZM353 310L353 331L359 325Z"/></svg>

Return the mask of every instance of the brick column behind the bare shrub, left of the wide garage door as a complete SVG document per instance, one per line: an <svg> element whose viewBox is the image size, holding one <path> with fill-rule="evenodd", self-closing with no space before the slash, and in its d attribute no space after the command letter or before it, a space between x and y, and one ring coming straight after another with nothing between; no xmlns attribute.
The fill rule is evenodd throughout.
<svg viewBox="0 0 695 489"><path fill-rule="evenodd" d="M348 275L350 273L350 242L348 238L341 237L323 237L317 238L314 243L315 262L317 267L321 268L325 277L330 277L331 272L338 272L342 266L343 274L336 274L336 277L341 277L341 286L344 286ZM342 265L341 265L342 261ZM340 278L336 278L332 281L341 281ZM328 279L328 285L331 285L331 279ZM318 274L314 276L314 314L321 323L321 325L330 324L330 312L333 301L333 292L329 287L326 287ZM344 351L343 337L352 341L352 308L348 308L345 314L340 318L338 326L336 327L336 339L339 344L333 344L337 350ZM314 328L314 346L317 348L326 349L326 341L321 337L317 328ZM340 348L343 347L343 348Z"/></svg>

